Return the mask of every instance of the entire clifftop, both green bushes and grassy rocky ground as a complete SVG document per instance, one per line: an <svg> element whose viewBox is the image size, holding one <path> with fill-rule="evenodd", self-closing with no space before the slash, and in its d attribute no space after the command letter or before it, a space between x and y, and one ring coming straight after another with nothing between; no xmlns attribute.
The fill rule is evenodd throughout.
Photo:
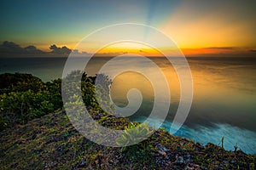
<svg viewBox="0 0 256 170"><path fill-rule="evenodd" d="M4 82L0 94L1 169L255 168L255 156L237 150L237 146L234 151L224 150L224 138L222 146L203 146L173 136L163 128L154 131L147 123L129 122L127 118L107 114L96 102L95 77L84 74L82 78L83 100L90 115L104 127L125 130L118 144L129 145L143 138L140 135L143 133L142 142L114 148L85 139L62 110L59 79L42 82L32 75L18 73L3 74L0 78ZM103 89L98 95L107 97ZM112 105L104 105L112 109ZM135 127L139 128L130 131Z"/></svg>

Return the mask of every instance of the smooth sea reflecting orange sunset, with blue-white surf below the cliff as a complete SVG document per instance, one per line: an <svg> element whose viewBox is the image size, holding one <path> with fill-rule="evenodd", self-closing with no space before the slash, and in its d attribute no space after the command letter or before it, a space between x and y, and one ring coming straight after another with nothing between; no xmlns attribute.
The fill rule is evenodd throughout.
<svg viewBox="0 0 256 170"><path fill-rule="evenodd" d="M94 58L85 71L94 76L109 59ZM150 59L159 65L170 86L170 110L162 125L169 130L180 97L177 75L168 60ZM66 58L2 58L0 61L0 73L32 73L50 81L61 77ZM202 144L221 144L224 136L225 149L234 150L237 144L239 149L256 154L256 59L202 57L188 61L194 82L194 98L189 116L176 135ZM117 66L129 66L129 59ZM147 69L154 74L153 69ZM111 74L111 70L106 74ZM154 90L143 75L126 71L116 77L111 88L113 102L119 106L127 105L126 94L131 88L141 91L143 103L130 118L143 122L154 105Z"/></svg>

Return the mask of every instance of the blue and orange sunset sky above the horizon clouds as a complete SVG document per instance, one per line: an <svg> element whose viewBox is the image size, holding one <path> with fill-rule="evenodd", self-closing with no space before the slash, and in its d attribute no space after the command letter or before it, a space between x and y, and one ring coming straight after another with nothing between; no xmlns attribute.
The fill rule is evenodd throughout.
<svg viewBox="0 0 256 170"><path fill-rule="evenodd" d="M10 0L1 2L0 8L0 42L34 45L44 51L51 44L74 48L96 29L128 22L163 31L184 54L256 50L255 0Z"/></svg>

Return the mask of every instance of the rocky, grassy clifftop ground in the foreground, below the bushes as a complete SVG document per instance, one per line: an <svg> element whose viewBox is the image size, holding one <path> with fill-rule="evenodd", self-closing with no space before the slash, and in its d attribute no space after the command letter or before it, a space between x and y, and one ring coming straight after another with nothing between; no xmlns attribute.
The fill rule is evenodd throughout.
<svg viewBox="0 0 256 170"><path fill-rule="evenodd" d="M129 121L91 115L102 124L124 128ZM85 139L64 111L0 133L1 169L255 169L255 156L203 146L160 129L141 144L122 150Z"/></svg>

